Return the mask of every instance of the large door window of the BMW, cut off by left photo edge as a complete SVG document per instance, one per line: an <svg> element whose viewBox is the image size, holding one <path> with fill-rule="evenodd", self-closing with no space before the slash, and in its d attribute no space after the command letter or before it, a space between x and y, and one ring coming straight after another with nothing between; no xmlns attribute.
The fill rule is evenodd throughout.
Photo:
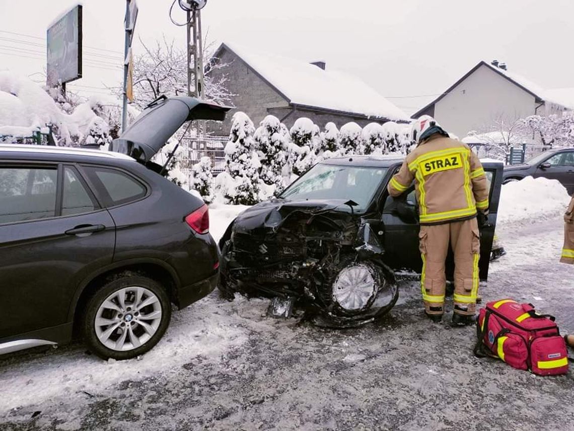
<svg viewBox="0 0 574 431"><path fill-rule="evenodd" d="M56 214L56 168L0 167L0 223Z"/></svg>

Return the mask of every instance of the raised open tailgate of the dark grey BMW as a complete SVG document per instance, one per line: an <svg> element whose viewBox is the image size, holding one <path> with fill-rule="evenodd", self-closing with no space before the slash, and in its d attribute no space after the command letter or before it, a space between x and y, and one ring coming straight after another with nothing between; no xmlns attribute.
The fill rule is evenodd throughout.
<svg viewBox="0 0 574 431"><path fill-rule="evenodd" d="M193 97L160 97L111 143L110 150L147 163L186 121L225 120L231 108Z"/></svg>

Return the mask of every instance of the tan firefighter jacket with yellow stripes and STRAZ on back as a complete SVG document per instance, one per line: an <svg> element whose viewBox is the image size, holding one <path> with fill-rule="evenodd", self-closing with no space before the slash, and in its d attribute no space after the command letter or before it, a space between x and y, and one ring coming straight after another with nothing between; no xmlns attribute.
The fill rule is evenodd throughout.
<svg viewBox="0 0 574 431"><path fill-rule="evenodd" d="M421 225L476 216L488 209L488 182L478 156L468 145L434 134L406 156L389 182L389 193L404 193L416 179Z"/></svg>

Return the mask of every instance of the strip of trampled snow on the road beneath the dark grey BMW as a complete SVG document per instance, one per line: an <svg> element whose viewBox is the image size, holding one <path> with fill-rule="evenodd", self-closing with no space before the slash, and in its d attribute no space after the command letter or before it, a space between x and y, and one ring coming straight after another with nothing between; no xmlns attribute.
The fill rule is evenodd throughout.
<svg viewBox="0 0 574 431"><path fill-rule="evenodd" d="M106 393L125 380L149 376L161 379L162 374L177 373L197 356L215 362L247 340L245 330L238 322L230 322L229 317L229 309L242 302L228 303L210 295L174 312L164 337L139 359L104 361L86 355L86 348L77 344L48 353L30 353L28 357L11 357L0 363L0 417L10 409L37 405L59 395L85 398L86 392L92 396Z"/></svg>

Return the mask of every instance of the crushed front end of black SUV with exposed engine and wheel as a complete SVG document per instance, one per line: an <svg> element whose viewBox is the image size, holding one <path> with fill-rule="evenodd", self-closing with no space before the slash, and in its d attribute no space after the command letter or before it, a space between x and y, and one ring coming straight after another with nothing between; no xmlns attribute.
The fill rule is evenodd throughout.
<svg viewBox="0 0 574 431"><path fill-rule="evenodd" d="M220 290L275 298L274 315L305 310L313 322L350 327L373 321L398 298L393 271L369 221L352 201L274 199L251 207L220 241Z"/></svg>

